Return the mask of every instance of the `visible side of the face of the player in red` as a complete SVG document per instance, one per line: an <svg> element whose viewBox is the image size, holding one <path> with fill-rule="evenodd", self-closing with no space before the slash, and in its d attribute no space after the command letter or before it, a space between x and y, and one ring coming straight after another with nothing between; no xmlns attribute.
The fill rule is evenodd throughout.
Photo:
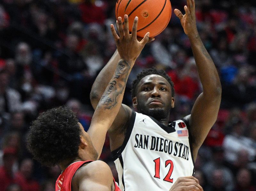
<svg viewBox="0 0 256 191"><path fill-rule="evenodd" d="M87 147L86 147L86 159L84 160L97 160L98 158L98 152L96 151L96 149L94 148L93 144L92 144L92 140L91 140L91 137L88 135L88 133L86 133L84 131L84 128L82 126L81 123L78 123L79 124L79 127L82 131L82 136L84 137L85 139L85 142L87 143Z"/></svg>

